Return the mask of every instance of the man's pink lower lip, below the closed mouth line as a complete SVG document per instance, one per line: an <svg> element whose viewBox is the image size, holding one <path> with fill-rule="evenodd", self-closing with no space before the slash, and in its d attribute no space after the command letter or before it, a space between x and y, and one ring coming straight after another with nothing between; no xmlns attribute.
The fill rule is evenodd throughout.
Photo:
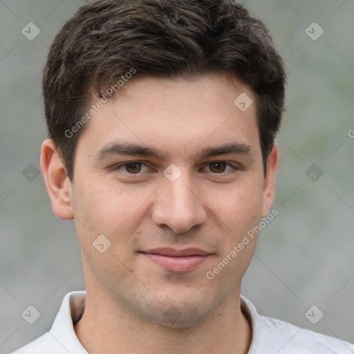
<svg viewBox="0 0 354 354"><path fill-rule="evenodd" d="M149 258L154 263L162 265L163 268L170 270L171 272L189 272L201 265L207 256L187 256L187 257L168 257L161 254L141 253L145 257Z"/></svg>

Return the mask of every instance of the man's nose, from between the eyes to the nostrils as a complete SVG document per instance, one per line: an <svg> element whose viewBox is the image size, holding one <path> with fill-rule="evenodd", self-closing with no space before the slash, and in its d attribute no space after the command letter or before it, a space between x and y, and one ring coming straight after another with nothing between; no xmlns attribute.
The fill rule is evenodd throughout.
<svg viewBox="0 0 354 354"><path fill-rule="evenodd" d="M153 223L159 227L167 225L176 233L187 232L192 227L205 223L205 205L187 172L174 182L163 179L153 204Z"/></svg>

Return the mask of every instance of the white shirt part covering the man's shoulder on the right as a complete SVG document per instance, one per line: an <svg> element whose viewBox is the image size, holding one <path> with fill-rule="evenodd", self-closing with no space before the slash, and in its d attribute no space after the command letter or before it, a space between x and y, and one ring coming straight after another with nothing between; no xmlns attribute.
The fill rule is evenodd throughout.
<svg viewBox="0 0 354 354"><path fill-rule="evenodd" d="M241 307L252 325L250 354L354 354L354 344L300 328L288 322L261 316L241 297Z"/></svg>

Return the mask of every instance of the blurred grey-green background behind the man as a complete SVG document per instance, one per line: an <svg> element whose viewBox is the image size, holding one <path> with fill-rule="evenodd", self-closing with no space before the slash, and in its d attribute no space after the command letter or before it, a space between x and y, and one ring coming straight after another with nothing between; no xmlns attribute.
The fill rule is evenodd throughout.
<svg viewBox="0 0 354 354"><path fill-rule="evenodd" d="M84 289L73 221L53 214L35 172L46 138L41 69L85 2L0 0L0 353L45 333L64 295ZM243 3L271 30L288 93L279 215L259 236L242 293L261 315L354 342L354 1ZM40 30L32 40L33 25L21 32L29 22ZM32 325L21 317L30 305L41 313ZM313 305L324 313L317 324L305 315Z"/></svg>

